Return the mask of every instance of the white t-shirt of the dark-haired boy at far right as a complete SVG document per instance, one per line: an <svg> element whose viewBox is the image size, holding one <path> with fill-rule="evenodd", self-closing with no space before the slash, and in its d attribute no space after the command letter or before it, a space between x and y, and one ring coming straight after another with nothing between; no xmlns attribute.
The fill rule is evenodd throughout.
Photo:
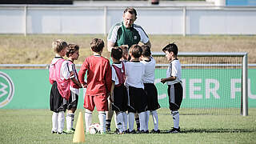
<svg viewBox="0 0 256 144"><path fill-rule="evenodd" d="M175 83L182 83L182 66L178 59L174 59L170 62L170 65L166 71L166 78L174 76L176 79L174 81L167 81L167 85L173 85Z"/></svg>

